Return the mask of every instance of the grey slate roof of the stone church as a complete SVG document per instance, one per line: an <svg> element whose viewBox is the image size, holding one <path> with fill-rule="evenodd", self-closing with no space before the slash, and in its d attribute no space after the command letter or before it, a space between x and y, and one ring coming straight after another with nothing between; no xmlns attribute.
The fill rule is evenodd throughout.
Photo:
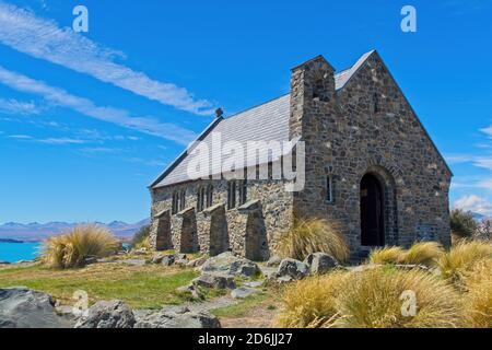
<svg viewBox="0 0 492 350"><path fill-rule="evenodd" d="M336 90L342 89L350 78L359 70L373 51L363 55L353 67L335 74ZM283 95L248 110L236 114L226 119L215 119L198 138L212 149L212 133L220 132L222 143L227 141L238 141L246 149L247 141L289 141L289 118L290 118L290 94ZM198 141L197 140L197 141ZM192 147L188 148L176 161L155 180L152 188L175 185L188 182L192 178L188 175L190 163L189 153ZM207 156L202 154L202 156ZM227 158L229 159L229 158ZM194 155L194 162L199 160ZM221 160L219 160L221 161ZM274 161L274 160L269 160ZM213 171L219 164L210 164L212 172L208 175L219 174ZM253 165L253 164L246 164Z"/></svg>

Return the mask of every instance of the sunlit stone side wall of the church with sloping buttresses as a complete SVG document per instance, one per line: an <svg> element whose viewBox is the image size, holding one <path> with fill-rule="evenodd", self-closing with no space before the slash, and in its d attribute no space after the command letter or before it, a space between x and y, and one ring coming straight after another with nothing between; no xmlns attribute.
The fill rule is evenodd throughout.
<svg viewBox="0 0 492 350"><path fill-rule="evenodd" d="M213 214L209 210L203 212L196 212L198 189L208 184L213 185L213 207L223 206L223 214L225 214L225 229L223 229L223 240L221 249L231 249L243 256L246 255L246 240L248 221L249 226L254 224L255 215L258 213L241 212L238 203L233 209L227 210L227 182L226 180L197 180L181 185L175 185L171 187L156 188L151 191L152 194L152 224L151 224L151 241L154 246L157 242L157 228L160 225L159 213L172 209L172 197L174 191L186 189L186 209L191 211L196 217L195 232L197 236L197 250L201 253L210 253L210 230L213 229L212 224ZM267 247L262 254L262 260L274 250L279 237L285 233L292 223L292 194L284 190L285 183L283 180L249 180L247 184L247 199L259 200L261 202L260 219L263 222L265 232L258 232L260 235L265 235L267 240ZM237 188L238 190L238 188ZM181 228L183 218L180 214L173 214L171 218L171 240L175 249L181 249ZM249 220L248 220L249 218ZM257 218L258 219L258 218ZM219 218L215 218L219 220ZM251 223L253 222L253 223ZM162 224L162 223L161 223ZM220 222L216 224L221 224ZM216 226L215 226L216 228ZM251 230L249 230L250 234ZM215 233L214 233L215 234ZM212 235L213 238L213 235ZM162 238L161 238L162 240ZM214 246L218 243L215 241ZM213 249L212 249L213 250ZM212 252L216 254L215 249Z"/></svg>

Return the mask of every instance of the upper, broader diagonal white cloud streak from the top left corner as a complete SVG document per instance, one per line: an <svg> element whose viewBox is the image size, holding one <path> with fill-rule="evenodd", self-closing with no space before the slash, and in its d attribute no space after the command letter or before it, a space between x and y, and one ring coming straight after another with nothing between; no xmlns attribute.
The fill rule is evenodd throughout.
<svg viewBox="0 0 492 350"><path fill-rule="evenodd" d="M117 63L115 59L121 57L120 52L3 1L0 1L0 43L164 105L199 115L212 114L210 102L195 98L186 89L152 80Z"/></svg>

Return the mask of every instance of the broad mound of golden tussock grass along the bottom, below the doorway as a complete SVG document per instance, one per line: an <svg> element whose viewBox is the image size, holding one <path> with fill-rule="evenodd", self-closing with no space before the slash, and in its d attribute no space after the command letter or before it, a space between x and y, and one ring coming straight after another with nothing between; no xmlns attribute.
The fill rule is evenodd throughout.
<svg viewBox="0 0 492 350"><path fill-rule="evenodd" d="M417 296L414 316L403 316L405 291ZM458 292L421 270L375 268L309 278L286 289L281 327L430 328L462 324Z"/></svg>

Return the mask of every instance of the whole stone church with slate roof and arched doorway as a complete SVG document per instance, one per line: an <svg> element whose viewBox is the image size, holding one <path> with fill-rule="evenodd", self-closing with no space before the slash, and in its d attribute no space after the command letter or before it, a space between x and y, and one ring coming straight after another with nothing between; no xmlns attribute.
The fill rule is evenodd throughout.
<svg viewBox="0 0 492 350"><path fill-rule="evenodd" d="M285 190L292 179L272 176L227 179L220 167L190 178L188 149L150 186L159 250L266 260L294 213L340 224L354 257L385 245L449 244L453 174L376 51L339 72L323 56L294 67L289 94L227 118L219 110L198 141L214 133L243 143L303 141L304 187Z"/></svg>

